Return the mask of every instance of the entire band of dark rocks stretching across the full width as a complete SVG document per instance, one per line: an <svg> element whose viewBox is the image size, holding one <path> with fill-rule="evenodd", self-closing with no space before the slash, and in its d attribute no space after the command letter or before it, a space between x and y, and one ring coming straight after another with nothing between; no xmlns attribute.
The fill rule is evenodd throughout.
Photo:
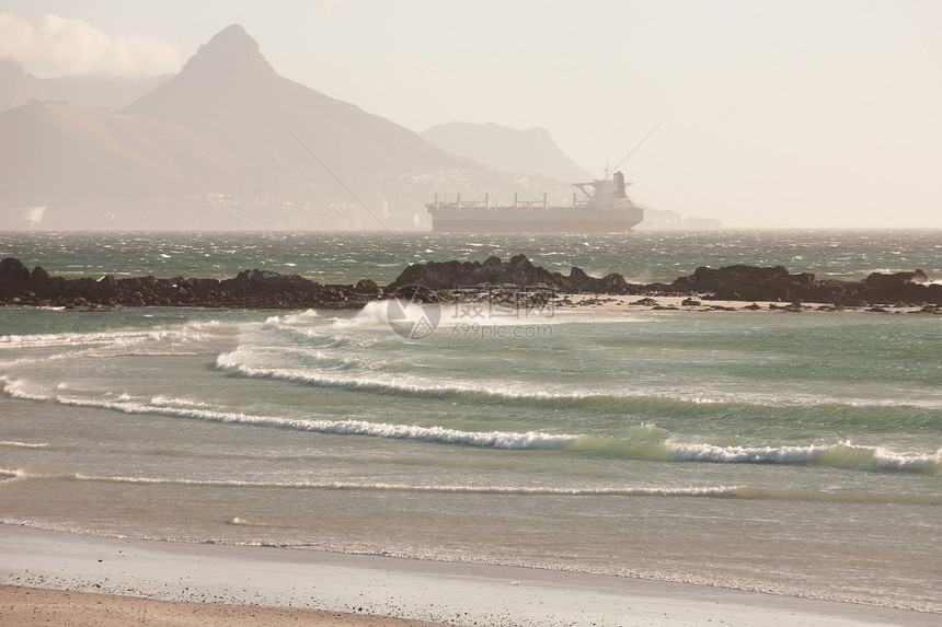
<svg viewBox="0 0 942 627"><path fill-rule="evenodd" d="M700 267L671 283L639 285L629 283L614 272L591 277L578 267L573 267L568 275L554 272L535 266L526 255L517 255L509 262L490 257L484 262L413 264L381 288L370 279L356 285L322 286L297 275L262 270L244 270L223 280L116 279L112 275L101 279L66 279L50 277L38 266L30 270L15 258L0 262L0 305L358 309L393 293L417 300L532 297L543 301L556 294L669 295L781 302L788 303L788 307L774 306L790 307L789 311L801 311L804 302L824 303L828 309L922 307L927 313L942 313L942 285L932 283L921 270L873 272L861 281L840 281L818 280L808 272L793 275L782 266ZM699 304L693 299L685 302L688 303Z"/></svg>

